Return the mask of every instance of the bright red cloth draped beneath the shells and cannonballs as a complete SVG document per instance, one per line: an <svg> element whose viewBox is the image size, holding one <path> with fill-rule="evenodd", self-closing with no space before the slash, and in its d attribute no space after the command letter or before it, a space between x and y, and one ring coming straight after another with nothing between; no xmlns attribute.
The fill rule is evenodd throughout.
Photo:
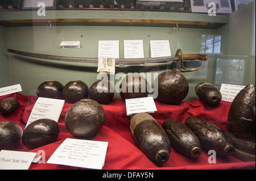
<svg viewBox="0 0 256 181"><path fill-rule="evenodd" d="M0 121L13 121L22 127L23 131L26 126L30 112L37 100L36 96L24 96L19 93L5 95L0 97L0 101L7 97L13 97L19 100L20 106L11 115L2 115ZM216 108L207 106L200 100L191 100L182 102L180 106L173 106L159 103L155 100L158 111L151 113L156 121L162 125L163 121L170 118L175 121L184 123L188 116L196 116L201 120L209 120L217 124L222 129L226 129L226 120L230 103L221 102ZM18 151L38 152L44 150L46 161L51 157L57 147L65 138L73 137L65 128L65 113L72 104L65 103L58 121L60 127L59 138L56 142L42 146L34 150L28 150L20 140ZM171 149L170 158L162 166L156 166L152 163L141 150L137 148L129 128L129 116L126 116L126 107L122 99L113 99L108 105L102 104L106 119L101 131L91 140L107 141L108 150L106 153L105 166L103 169L108 170L126 170L126 169L255 169L254 162L243 162L233 156L223 158L218 157L216 163L208 163L210 155L202 151L197 159L187 158L179 154L174 148ZM48 163L32 163L30 169L82 169L79 167L55 165Z"/></svg>

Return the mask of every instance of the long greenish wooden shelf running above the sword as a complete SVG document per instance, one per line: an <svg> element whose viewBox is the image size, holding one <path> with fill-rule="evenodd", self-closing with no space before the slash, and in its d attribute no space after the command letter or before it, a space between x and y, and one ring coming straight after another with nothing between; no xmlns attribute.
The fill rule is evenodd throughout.
<svg viewBox="0 0 256 181"><path fill-rule="evenodd" d="M227 15L209 16L179 12L149 11L82 11L56 10L46 11L46 16L39 16L37 11L0 12L2 26L154 26L181 28L216 29L228 23Z"/></svg>

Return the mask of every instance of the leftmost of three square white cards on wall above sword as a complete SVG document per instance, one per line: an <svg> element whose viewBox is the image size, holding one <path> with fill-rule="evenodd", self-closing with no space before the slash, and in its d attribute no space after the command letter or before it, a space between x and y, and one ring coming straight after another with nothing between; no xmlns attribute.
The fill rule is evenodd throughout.
<svg viewBox="0 0 256 181"><path fill-rule="evenodd" d="M119 58L119 40L98 41L98 57Z"/></svg>

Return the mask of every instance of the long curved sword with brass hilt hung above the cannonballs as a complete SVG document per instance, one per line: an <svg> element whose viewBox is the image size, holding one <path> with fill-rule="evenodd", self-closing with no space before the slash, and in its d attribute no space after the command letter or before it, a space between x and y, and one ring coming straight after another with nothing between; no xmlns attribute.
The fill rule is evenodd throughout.
<svg viewBox="0 0 256 181"><path fill-rule="evenodd" d="M57 61L67 61L67 62L84 62L84 63L98 63L98 58L83 58L83 57L67 57L67 56L54 56L49 54L40 54L40 53L31 53L31 52L23 52L19 50L7 49L8 52L18 54L26 57L33 58L42 58L47 60L57 60ZM201 69L203 67L204 61L207 60L206 54L183 54L180 49L177 50L175 56L168 57L156 57L156 58L115 58L116 64L144 64L144 63L160 63L160 62L169 62L179 61L179 69L182 68L185 71L194 71L185 68L183 65L184 60L201 60L202 65L200 68L194 68L195 70ZM172 64L173 65L173 64ZM173 68L174 69L174 68ZM174 69L175 70L175 69ZM184 71L180 70L180 71ZM179 71L179 70L176 70Z"/></svg>

